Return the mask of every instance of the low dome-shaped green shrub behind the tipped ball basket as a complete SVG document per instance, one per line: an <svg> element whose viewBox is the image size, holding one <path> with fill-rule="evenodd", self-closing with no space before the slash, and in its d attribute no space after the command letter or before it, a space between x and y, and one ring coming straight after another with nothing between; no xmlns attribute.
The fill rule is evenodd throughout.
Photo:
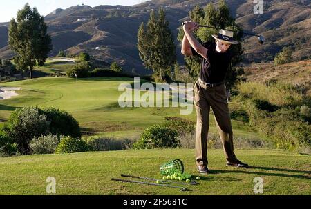
<svg viewBox="0 0 311 209"><path fill-rule="evenodd" d="M178 146L180 146L180 141L177 131L164 124L147 128L142 132L140 140L133 144L135 149L177 148Z"/></svg>

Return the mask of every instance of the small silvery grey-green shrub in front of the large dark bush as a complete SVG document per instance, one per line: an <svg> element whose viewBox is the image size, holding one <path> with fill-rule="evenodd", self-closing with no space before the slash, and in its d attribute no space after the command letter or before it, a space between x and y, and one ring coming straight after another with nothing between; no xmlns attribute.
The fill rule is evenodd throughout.
<svg viewBox="0 0 311 209"><path fill-rule="evenodd" d="M55 152L58 143L58 136L50 134L33 138L30 141L29 146L33 154L52 154Z"/></svg>

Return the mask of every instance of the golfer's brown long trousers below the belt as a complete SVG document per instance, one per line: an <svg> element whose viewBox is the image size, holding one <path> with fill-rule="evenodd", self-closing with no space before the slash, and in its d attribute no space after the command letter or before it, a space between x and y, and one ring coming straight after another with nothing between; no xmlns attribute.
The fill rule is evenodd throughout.
<svg viewBox="0 0 311 209"><path fill-rule="evenodd" d="M237 161L234 155L233 133L227 103L225 84L207 87L196 81L194 84L194 105L196 107L196 163L207 166L207 135L209 131L209 110L213 109L214 118L227 162Z"/></svg>

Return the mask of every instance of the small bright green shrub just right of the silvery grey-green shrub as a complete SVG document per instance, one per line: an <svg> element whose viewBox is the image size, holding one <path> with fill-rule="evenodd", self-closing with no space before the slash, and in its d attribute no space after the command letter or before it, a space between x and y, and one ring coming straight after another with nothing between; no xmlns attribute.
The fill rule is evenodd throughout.
<svg viewBox="0 0 311 209"><path fill-rule="evenodd" d="M87 152L91 150L86 141L73 137L62 137L55 153L73 153L73 152Z"/></svg>

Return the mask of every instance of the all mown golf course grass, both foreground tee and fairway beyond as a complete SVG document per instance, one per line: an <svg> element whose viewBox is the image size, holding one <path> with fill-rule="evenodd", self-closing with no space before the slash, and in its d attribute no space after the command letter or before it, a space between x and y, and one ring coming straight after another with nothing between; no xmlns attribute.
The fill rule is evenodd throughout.
<svg viewBox="0 0 311 209"><path fill-rule="evenodd" d="M101 137L138 139L140 133L164 117L183 117L180 108L120 108L117 99L120 83L131 78L101 77L70 79L46 77L2 83L19 87L18 96L0 101L1 120L8 119L15 108L25 106L55 107L73 115L84 134ZM143 93L143 92L141 92ZM230 106L230 105L229 105ZM211 115L211 132L217 133ZM236 138L262 139L247 123L232 120ZM211 174L201 175L200 184L191 191L111 181L120 174L162 179L160 165L181 159L185 172L196 177L194 149L120 150L80 152L62 155L30 155L0 158L1 194L44 195L46 178L55 177L57 195L252 195L255 177L263 178L263 195L310 195L310 155L288 150L238 149L236 154L252 167L225 166L223 150L208 152ZM149 181L150 182L150 181ZM153 182L154 183L154 182Z"/></svg>

